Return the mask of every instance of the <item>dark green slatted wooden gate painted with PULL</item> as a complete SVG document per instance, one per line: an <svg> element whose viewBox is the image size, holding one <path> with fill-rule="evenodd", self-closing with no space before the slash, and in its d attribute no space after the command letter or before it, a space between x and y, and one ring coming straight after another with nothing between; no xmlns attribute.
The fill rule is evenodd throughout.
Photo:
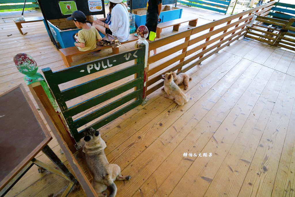
<svg viewBox="0 0 295 197"><path fill-rule="evenodd" d="M98 129L142 103L142 96L144 90L144 56L145 46L143 46L142 48L137 48L135 50L102 58L96 61L88 62L86 64L73 66L60 71L53 72L50 68L42 69L44 76L47 80L47 83L61 109L61 112L76 142L78 142L83 137L83 130L80 132L78 132L77 130L81 126L84 126L87 123L95 120L96 118L99 118L100 116L109 113L110 111L120 107L121 105L132 101L128 105L107 115L106 117L100 119L96 123L87 126L91 126L94 129ZM132 60L137 60L136 64L112 72L110 74L100 76L96 79L92 79L85 83L75 85L71 88L60 90L60 87L58 86L59 84L70 82L72 80L85 77L87 75L102 71L104 69L109 69L110 67L118 66L120 64ZM124 79L125 77L131 76L132 74L136 74L135 79L128 81L127 83L124 83L106 92L102 92L99 95L79 102L78 104L73 105L71 107L67 107L66 105L66 102L71 99L80 97L81 95L99 89L101 87L107 86L120 79ZM81 118L73 120L74 115L89 110L90 108L93 108L94 106L97 106L109 99L112 99L117 95L120 95L123 92L126 92L130 89L135 90L113 102L106 104L105 106L97 110L87 113Z"/></svg>

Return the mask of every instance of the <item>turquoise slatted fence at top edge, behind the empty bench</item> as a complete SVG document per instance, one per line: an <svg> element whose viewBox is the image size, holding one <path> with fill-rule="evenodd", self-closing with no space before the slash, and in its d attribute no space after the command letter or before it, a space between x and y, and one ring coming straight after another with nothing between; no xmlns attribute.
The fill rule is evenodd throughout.
<svg viewBox="0 0 295 197"><path fill-rule="evenodd" d="M230 6L230 0L189 0L189 2L178 0L177 2L188 6L194 6L209 9L216 12L222 12L224 14L226 14L227 9Z"/></svg>

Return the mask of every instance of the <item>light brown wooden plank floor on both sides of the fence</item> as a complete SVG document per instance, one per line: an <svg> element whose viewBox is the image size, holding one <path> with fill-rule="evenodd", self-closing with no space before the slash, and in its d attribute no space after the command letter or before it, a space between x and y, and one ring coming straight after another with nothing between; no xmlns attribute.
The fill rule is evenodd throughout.
<svg viewBox="0 0 295 197"><path fill-rule="evenodd" d="M199 9L183 13L213 20ZM64 68L42 22L24 25L28 34L19 35L12 22L18 15L0 16L0 93L24 83L12 61L16 53L31 54L40 68ZM163 36L169 34L166 28ZM79 56L74 64L110 52ZM177 106L158 89L146 105L101 128L109 162L132 176L115 182L117 196L295 196L294 55L241 38L189 71L191 100L185 105ZM54 136L49 146L68 166ZM42 153L36 158L50 164ZM78 151L76 158L90 179L84 154ZM66 186L34 166L6 196L60 196ZM86 195L80 188L69 196Z"/></svg>

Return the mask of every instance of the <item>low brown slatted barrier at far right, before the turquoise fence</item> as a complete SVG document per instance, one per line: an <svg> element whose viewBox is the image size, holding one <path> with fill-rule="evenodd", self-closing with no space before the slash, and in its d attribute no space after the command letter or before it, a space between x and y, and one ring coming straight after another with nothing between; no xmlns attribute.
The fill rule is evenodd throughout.
<svg viewBox="0 0 295 197"><path fill-rule="evenodd" d="M245 33L246 38L251 38L270 45L283 47L295 51L295 34L288 32L289 30L295 31L295 27L291 26L292 24L294 24L295 18L291 18L289 19L289 21L286 21L274 19L271 17L257 16L255 21L258 22L256 22L256 24L253 23L252 27L247 28L247 32ZM277 26L279 27L279 31L278 29L274 29L274 27L262 26L260 25L261 23ZM274 31L268 32L268 29Z"/></svg>

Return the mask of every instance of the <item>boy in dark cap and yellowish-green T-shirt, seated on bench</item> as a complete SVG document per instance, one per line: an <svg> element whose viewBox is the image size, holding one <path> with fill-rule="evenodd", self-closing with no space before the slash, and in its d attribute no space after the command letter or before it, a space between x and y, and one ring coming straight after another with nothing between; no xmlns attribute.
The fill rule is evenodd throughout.
<svg viewBox="0 0 295 197"><path fill-rule="evenodd" d="M67 20L73 20L76 27L81 29L78 31L78 43L75 43L75 46L78 47L79 51L90 51L95 49L96 43L101 41L102 38L95 27L87 25L85 14L77 10L74 11Z"/></svg>

